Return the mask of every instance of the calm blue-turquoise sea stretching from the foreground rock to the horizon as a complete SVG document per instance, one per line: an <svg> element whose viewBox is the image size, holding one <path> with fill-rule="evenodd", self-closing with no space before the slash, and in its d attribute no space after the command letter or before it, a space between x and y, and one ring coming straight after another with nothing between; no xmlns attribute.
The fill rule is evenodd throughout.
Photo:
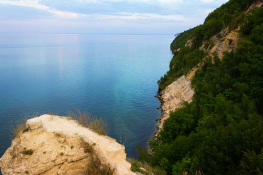
<svg viewBox="0 0 263 175"><path fill-rule="evenodd" d="M156 131L157 80L172 35L0 33L0 156L26 115L75 108L102 117L128 156Z"/></svg>

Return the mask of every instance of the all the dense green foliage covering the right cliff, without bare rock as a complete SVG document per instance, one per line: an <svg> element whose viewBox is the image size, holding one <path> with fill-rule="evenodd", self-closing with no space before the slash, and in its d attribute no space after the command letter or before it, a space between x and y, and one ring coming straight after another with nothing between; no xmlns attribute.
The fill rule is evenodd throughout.
<svg viewBox="0 0 263 175"><path fill-rule="evenodd" d="M209 14L205 23L225 18L223 25L235 25L235 21L226 20L229 14L236 19L253 1L229 0ZM152 154L140 150L142 160L162 167L167 174L263 174L263 6L239 22L238 48L221 60L215 56L213 61L209 57L204 61L192 80L193 101L170 113L150 142ZM202 39L221 27L203 33ZM188 34L196 37L193 30L197 28ZM160 85L185 73L184 66L192 67L204 55L183 46L187 37L183 33L172 43L181 49L174 54Z"/></svg>

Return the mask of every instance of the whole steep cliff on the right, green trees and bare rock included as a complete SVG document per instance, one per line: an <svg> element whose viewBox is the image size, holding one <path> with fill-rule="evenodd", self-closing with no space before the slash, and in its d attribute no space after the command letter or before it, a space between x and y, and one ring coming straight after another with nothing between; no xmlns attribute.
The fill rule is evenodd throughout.
<svg viewBox="0 0 263 175"><path fill-rule="evenodd" d="M173 40L158 81L167 119L150 142L153 166L167 174L262 174L262 4L229 0Z"/></svg>

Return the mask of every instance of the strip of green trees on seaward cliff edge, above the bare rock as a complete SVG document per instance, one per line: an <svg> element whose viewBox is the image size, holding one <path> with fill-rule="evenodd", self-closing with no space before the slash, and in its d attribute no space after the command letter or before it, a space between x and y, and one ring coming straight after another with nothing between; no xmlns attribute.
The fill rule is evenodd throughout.
<svg viewBox="0 0 263 175"><path fill-rule="evenodd" d="M193 62L200 61L200 58L204 54L199 50L203 42L208 41L210 37L216 33L218 37L220 37L219 31L225 27L229 29L236 28L244 20L244 10L254 1L255 0L229 0L211 12L202 25L186 30L177 36L171 43L171 50L174 51L180 48L180 51L185 51L185 49L189 49L185 44L187 40L191 39L191 51L193 53L189 53L191 52L189 50L187 50L187 54L174 53L169 71L158 81L159 89L165 88L176 78L193 68L196 65L193 64Z"/></svg>

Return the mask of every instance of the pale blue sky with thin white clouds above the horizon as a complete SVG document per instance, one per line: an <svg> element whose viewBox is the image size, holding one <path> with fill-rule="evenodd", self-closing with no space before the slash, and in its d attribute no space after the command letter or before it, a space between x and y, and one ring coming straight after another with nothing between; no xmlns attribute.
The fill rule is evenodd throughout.
<svg viewBox="0 0 263 175"><path fill-rule="evenodd" d="M176 34L228 0L0 0L0 32Z"/></svg>

